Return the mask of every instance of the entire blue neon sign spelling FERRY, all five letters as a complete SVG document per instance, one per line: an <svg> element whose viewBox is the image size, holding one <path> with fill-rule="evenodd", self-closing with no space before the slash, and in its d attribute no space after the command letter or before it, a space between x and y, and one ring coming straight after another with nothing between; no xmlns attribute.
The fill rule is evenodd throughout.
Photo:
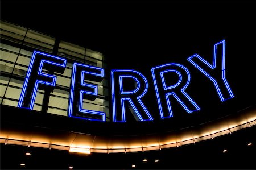
<svg viewBox="0 0 256 170"><path fill-rule="evenodd" d="M225 50L225 40L214 44L212 64L197 54L188 57L189 63L213 82L221 102L234 97L225 76ZM32 110L38 89L47 88L52 92L57 78L53 73L63 73L66 63L67 61L61 57L35 51L28 67L18 107ZM154 120L143 102L148 90L147 78L132 69L114 69L110 74L113 122L126 122L127 107L137 121ZM151 74L160 118L173 117L171 99L175 99L188 114L200 110L199 105L186 90L191 74L184 65L178 63L159 65L151 69ZM177 76L174 84L170 80L170 74ZM98 86L85 83L85 80L101 82L103 77L104 69L102 68L81 63L73 64L68 102L69 117L106 121L106 113L86 110L82 105L84 99L94 100L98 95ZM125 89L126 81L132 82L134 89ZM98 119L88 118L88 115L94 115Z"/></svg>

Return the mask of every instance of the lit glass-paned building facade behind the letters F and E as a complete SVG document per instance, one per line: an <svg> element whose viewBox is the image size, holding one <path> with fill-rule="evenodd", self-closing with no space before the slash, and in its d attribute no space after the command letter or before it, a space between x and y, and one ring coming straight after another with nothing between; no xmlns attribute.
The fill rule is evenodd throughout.
<svg viewBox="0 0 256 170"><path fill-rule="evenodd" d="M56 86L53 92L48 95L45 95L44 90L36 92L33 110L44 113L68 116L68 98L73 63L78 62L106 68L104 56L100 52L1 21L1 105L18 106L22 86L34 51L67 59L64 73L56 74ZM106 78L104 77L101 82L87 80L98 86L98 95L94 101L84 99L82 107L106 113L106 121L109 121L109 87ZM44 107L43 102L47 102L49 105Z"/></svg>

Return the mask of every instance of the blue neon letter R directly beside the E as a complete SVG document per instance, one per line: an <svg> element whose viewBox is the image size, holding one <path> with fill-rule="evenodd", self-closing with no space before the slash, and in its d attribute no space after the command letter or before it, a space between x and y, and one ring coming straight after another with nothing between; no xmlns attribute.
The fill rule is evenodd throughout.
<svg viewBox="0 0 256 170"><path fill-rule="evenodd" d="M123 90L123 79L129 78L136 83L134 90L127 91ZM115 82L115 80L119 80ZM114 122L126 122L126 101L130 104L130 111L133 113L134 118L137 121L152 121L153 118L147 107L142 101L142 97L146 94L148 89L148 82L143 74L130 70L130 69L119 69L111 71L112 81L112 109L113 109L113 121ZM116 88L118 86L119 88ZM118 110L121 108L121 110ZM117 113L121 112L121 118L118 117Z"/></svg>

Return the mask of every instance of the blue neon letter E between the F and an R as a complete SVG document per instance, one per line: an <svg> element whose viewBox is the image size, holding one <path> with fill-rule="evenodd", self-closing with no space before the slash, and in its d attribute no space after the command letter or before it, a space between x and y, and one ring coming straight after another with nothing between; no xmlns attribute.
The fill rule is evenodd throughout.
<svg viewBox="0 0 256 170"><path fill-rule="evenodd" d="M87 77L87 78L86 78ZM86 64L73 64L71 93L69 96L68 116L81 118L90 121L106 121L106 113L102 111L86 110L82 108L83 99L94 100L98 95L98 86L85 83L84 81L95 78L101 81L104 77L104 69L93 67ZM97 78L99 78L97 80ZM78 106L78 107L77 107ZM89 118L86 116L98 116L100 119Z"/></svg>

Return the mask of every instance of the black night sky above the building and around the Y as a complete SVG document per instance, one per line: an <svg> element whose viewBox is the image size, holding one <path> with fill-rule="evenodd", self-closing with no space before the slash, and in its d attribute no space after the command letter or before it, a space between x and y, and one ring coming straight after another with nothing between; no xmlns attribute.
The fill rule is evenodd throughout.
<svg viewBox="0 0 256 170"><path fill-rule="evenodd" d="M199 113L255 105L254 1L1 1L1 19L104 53L109 68L133 68L150 82L150 69L180 63L191 71L189 94ZM187 61L212 60L226 40L226 77L235 98L221 103L212 82ZM216 107L217 106L217 107ZM213 109L214 108L214 109Z"/></svg>

